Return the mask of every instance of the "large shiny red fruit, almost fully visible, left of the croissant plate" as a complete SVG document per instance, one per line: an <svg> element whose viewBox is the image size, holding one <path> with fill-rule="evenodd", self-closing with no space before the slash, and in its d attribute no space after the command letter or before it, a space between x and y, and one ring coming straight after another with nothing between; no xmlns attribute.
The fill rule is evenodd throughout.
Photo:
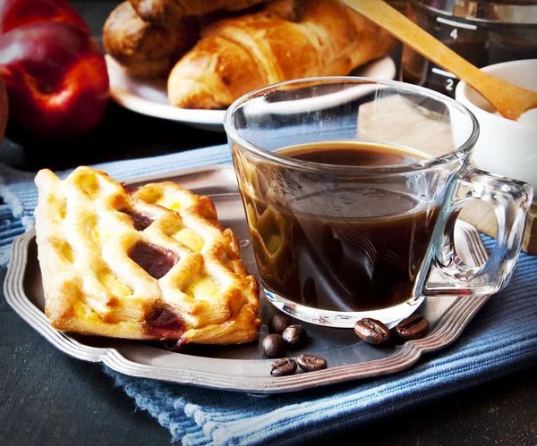
<svg viewBox="0 0 537 446"><path fill-rule="evenodd" d="M61 21L34 21L0 36L0 76L10 125L63 139L93 129L105 113L104 55L86 31Z"/></svg>

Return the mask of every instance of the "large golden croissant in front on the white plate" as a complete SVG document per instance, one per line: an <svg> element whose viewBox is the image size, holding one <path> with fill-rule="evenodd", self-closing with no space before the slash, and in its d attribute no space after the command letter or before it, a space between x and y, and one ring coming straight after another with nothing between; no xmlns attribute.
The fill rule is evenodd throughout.
<svg viewBox="0 0 537 446"><path fill-rule="evenodd" d="M300 13L286 11L300 9ZM396 39L337 0L281 0L210 24L167 80L170 104L225 108L268 84L347 75L387 55Z"/></svg>

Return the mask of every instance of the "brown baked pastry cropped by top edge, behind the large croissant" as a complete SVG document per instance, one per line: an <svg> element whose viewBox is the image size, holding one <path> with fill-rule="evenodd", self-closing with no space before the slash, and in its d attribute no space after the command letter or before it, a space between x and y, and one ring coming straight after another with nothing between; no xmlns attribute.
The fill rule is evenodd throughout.
<svg viewBox="0 0 537 446"><path fill-rule="evenodd" d="M269 0L130 0L144 21L175 29L184 16L204 16L216 12L243 11Z"/></svg>

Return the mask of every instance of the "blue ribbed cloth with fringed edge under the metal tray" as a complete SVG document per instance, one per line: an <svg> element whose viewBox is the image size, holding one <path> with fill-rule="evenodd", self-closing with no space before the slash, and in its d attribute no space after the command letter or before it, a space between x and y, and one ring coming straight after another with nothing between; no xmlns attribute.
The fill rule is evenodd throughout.
<svg viewBox="0 0 537 446"><path fill-rule="evenodd" d="M116 180L230 163L227 146L97 164ZM67 172L58 173L64 176ZM34 173L0 165L0 260L31 228ZM486 248L494 240L483 236ZM265 398L132 378L104 367L115 385L183 445L296 444L342 433L426 401L537 365L537 257L524 253L505 290L482 307L452 345L398 374Z"/></svg>

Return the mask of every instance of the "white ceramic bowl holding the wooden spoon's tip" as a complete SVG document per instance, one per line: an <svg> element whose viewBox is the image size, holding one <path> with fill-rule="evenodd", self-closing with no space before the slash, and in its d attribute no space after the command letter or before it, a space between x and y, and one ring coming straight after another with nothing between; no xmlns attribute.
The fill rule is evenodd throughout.
<svg viewBox="0 0 537 446"><path fill-rule="evenodd" d="M537 59L497 63L482 71L537 91ZM455 97L472 111L480 125L480 136L473 149L473 165L525 181L537 192L537 109L526 112L518 121L508 120L497 114L489 101L463 80L456 86Z"/></svg>

